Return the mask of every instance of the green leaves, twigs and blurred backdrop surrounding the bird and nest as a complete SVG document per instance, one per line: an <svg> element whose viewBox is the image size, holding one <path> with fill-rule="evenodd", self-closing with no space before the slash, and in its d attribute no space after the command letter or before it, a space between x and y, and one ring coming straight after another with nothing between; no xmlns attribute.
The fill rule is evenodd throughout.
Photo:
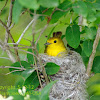
<svg viewBox="0 0 100 100"><path fill-rule="evenodd" d="M0 94L11 95L26 86L27 92L35 94L30 98L48 99L55 81L50 82L41 93L33 89L39 84L42 88L37 61L47 83L47 74L52 75L59 70L59 66L49 63L45 66L46 70L51 64L55 70L52 72L51 69L48 73L38 56L44 52L47 39L57 31L62 31L65 46L82 56L89 76L89 98L99 100L100 0L0 0L0 86L15 86L13 89L1 89ZM5 92L7 89L8 92ZM18 100L26 94L14 95L14 98Z"/></svg>

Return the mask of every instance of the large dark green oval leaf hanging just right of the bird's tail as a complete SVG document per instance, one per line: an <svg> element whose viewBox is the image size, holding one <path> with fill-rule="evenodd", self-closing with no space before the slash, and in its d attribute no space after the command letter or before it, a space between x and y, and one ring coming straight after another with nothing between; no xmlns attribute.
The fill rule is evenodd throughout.
<svg viewBox="0 0 100 100"><path fill-rule="evenodd" d="M80 31L78 25L69 26L66 29L66 40L68 44L73 47L77 48L80 44Z"/></svg>

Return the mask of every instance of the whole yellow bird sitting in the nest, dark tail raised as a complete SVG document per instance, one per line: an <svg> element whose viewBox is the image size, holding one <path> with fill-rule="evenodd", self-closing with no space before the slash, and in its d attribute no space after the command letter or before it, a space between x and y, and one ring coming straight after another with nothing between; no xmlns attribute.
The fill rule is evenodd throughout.
<svg viewBox="0 0 100 100"><path fill-rule="evenodd" d="M63 57L65 56L68 51L61 40L61 32L54 32L53 37L47 40L47 43L45 43L46 48L44 53L47 53L49 56L58 56Z"/></svg>

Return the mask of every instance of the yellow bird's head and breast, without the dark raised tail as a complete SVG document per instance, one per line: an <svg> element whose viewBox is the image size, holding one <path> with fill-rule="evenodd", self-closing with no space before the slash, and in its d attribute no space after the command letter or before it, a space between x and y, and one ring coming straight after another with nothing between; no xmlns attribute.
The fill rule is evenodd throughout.
<svg viewBox="0 0 100 100"><path fill-rule="evenodd" d="M60 38L52 37L47 41L48 45L45 49L45 53L49 56L61 56L67 53L67 49L64 46L63 41Z"/></svg>

